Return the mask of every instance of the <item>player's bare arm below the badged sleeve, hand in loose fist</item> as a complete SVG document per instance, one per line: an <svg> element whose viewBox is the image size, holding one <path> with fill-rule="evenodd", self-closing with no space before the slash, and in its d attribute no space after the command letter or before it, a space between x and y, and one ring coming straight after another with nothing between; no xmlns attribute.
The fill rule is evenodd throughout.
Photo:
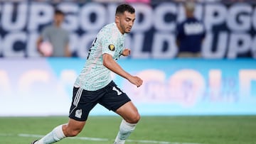
<svg viewBox="0 0 256 144"><path fill-rule="evenodd" d="M103 65L107 67L112 72L118 74L121 77L124 77L124 79L129 80L132 84L135 84L137 87L140 87L142 85L142 79L136 76L132 76L128 72L124 71L118 63L113 60L112 55L110 54L103 54Z"/></svg>

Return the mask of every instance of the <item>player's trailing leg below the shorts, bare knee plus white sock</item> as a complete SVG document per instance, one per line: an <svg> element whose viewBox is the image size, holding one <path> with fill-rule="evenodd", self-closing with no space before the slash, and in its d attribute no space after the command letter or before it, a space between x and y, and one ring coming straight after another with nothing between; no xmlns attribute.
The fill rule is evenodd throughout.
<svg viewBox="0 0 256 144"><path fill-rule="evenodd" d="M50 133L45 135L40 140L34 142L34 144L50 144L55 143L66 137L73 137L78 135L82 128L85 126L85 121L76 121L71 119L68 123L57 126Z"/></svg>

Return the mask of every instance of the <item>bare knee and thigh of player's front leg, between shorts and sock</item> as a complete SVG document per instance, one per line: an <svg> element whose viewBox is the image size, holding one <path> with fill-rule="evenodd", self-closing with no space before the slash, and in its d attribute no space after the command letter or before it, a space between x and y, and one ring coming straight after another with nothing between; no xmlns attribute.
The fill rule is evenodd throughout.
<svg viewBox="0 0 256 144"><path fill-rule="evenodd" d="M124 118L124 120L128 123L137 123L140 118L137 107L134 106L132 101L129 101L126 104L122 105L114 112L122 116L122 118Z"/></svg>

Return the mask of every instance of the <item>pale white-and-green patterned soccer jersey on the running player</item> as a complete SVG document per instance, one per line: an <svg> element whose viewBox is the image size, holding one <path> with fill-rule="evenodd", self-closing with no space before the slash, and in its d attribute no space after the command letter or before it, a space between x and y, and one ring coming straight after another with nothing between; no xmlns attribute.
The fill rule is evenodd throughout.
<svg viewBox="0 0 256 144"><path fill-rule="evenodd" d="M92 42L85 66L82 68L75 81L75 87L81 87L87 91L101 89L112 81L110 70L103 65L102 55L112 55L118 60L124 50L124 38L117 28L116 23L110 23L103 27Z"/></svg>

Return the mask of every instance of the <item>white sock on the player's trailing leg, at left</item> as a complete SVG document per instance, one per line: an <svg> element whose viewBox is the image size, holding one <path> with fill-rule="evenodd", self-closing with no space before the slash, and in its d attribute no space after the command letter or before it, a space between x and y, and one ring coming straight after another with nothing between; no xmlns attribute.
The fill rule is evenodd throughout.
<svg viewBox="0 0 256 144"><path fill-rule="evenodd" d="M36 144L50 144L60 141L61 139L65 138L66 136L63 133L62 125L57 126L53 129L50 133L45 135L43 138L38 140Z"/></svg>

